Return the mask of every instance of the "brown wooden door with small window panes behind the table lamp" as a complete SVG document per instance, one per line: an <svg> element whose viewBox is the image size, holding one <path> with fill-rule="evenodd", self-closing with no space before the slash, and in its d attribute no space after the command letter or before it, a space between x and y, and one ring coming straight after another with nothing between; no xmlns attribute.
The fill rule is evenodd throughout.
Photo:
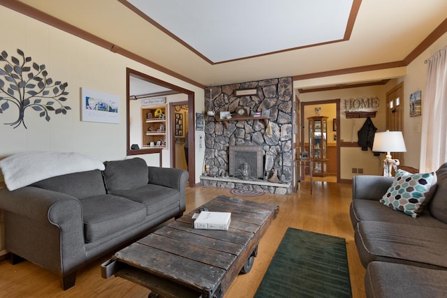
<svg viewBox="0 0 447 298"><path fill-rule="evenodd" d="M386 129L404 132L404 83L388 91L386 94ZM391 156L399 159L404 165L404 152L391 152Z"/></svg>

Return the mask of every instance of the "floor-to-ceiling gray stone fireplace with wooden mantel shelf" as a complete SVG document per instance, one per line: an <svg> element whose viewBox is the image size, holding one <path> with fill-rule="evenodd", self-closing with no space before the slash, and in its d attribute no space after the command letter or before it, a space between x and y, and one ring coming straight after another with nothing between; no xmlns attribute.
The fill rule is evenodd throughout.
<svg viewBox="0 0 447 298"><path fill-rule="evenodd" d="M237 96L235 90L241 89L256 89L257 92L254 95ZM282 77L212 87L211 96L210 89L205 90L205 110L208 110L211 100L216 117L205 115L204 161L204 167L210 170L200 178L201 183L204 186L265 193L291 193L292 78ZM237 107L247 108L249 117L234 121L229 119L225 123L219 119L220 112L234 114ZM267 109L270 110L268 121L251 117L254 112ZM238 150L238 147L244 149ZM256 158L253 157L254 153ZM233 164L236 162L233 158L240 161ZM250 179L240 178L241 163L249 163Z"/></svg>

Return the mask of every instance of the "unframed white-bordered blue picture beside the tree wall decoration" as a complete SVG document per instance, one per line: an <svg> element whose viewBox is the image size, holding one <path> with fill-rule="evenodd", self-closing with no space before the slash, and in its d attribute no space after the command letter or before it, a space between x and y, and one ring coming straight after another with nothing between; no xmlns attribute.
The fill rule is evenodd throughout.
<svg viewBox="0 0 447 298"><path fill-rule="evenodd" d="M119 95L81 88L81 121L119 124Z"/></svg>

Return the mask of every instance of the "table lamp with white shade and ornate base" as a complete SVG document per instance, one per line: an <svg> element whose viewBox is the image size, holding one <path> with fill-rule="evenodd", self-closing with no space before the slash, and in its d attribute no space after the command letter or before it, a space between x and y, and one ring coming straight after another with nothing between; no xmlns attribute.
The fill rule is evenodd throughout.
<svg viewBox="0 0 447 298"><path fill-rule="evenodd" d="M391 158L390 152L406 152L402 131L384 131L374 135L373 152L386 152L383 160L383 176L391 177L392 167L400 164L398 159Z"/></svg>

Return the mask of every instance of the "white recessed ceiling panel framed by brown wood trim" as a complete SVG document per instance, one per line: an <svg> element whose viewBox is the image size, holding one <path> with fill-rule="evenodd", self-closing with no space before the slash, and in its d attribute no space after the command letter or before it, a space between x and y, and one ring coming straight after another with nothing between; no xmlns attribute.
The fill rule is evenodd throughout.
<svg viewBox="0 0 447 298"><path fill-rule="evenodd" d="M353 0L122 3L215 64L342 40Z"/></svg>

